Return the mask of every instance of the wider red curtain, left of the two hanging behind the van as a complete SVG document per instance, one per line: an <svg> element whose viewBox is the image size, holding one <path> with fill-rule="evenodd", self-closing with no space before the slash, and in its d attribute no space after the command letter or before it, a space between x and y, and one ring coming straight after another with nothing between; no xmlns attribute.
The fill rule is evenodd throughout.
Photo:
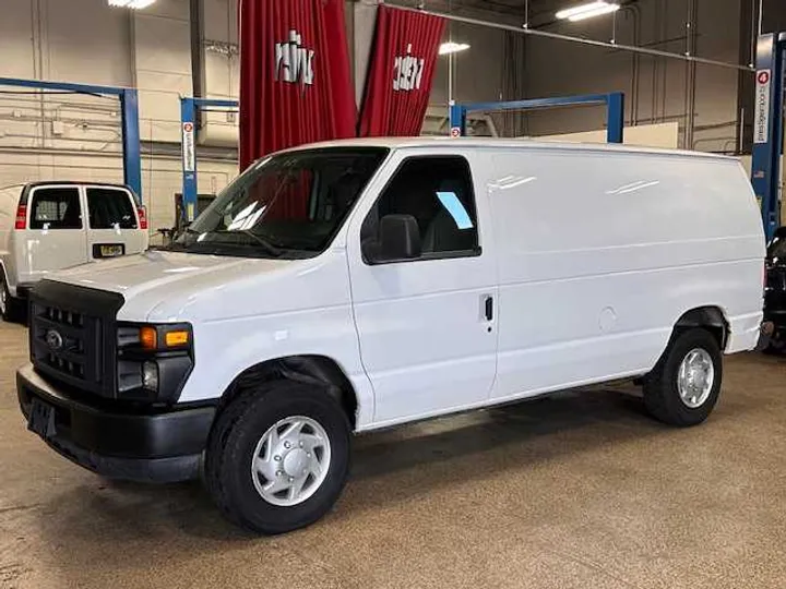
<svg viewBox="0 0 786 589"><path fill-rule="evenodd" d="M356 120L344 0L240 0L240 168Z"/></svg>

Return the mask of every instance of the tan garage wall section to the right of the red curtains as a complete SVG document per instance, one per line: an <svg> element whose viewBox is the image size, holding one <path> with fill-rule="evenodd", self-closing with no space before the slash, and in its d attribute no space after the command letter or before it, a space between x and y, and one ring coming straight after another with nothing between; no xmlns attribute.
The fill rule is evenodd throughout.
<svg viewBox="0 0 786 589"><path fill-rule="evenodd" d="M413 7L416 2L393 0ZM491 2L429 0L426 8L521 27L524 0L495 2L509 7L489 12ZM567 0L529 0L529 23L538 29L574 37L641 45L681 55L688 50L687 0L638 0L611 16L581 23L558 22L555 14ZM692 29L694 55L737 63L739 25L748 0L696 0ZM775 23L776 0L765 1L765 29ZM500 9L502 10L502 9ZM509 100L596 92L627 95L628 124L677 122L680 146L700 151L735 152L738 124L738 71L699 64L692 71L679 59L636 57L631 52L594 48L570 41L507 33L451 22L453 40L473 46L455 56L455 99ZM446 35L448 36L448 35ZM432 107L448 100L448 60L440 60L431 96ZM751 75L752 79L752 74ZM690 108L691 94L694 107ZM690 112L689 112L690 111ZM525 117L493 117L502 134L559 134L602 129L603 108L539 111Z"/></svg>

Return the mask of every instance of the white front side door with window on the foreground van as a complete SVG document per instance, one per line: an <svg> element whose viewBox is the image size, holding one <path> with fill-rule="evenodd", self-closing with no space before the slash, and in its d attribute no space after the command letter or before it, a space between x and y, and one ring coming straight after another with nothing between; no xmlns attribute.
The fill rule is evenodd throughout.
<svg viewBox="0 0 786 589"><path fill-rule="evenodd" d="M376 425L483 405L497 365L496 267L478 227L486 196L477 191L476 201L467 159L418 155L392 166L379 199L354 217L347 243ZM391 214L417 220L418 259L364 256L361 241L372 249L380 219Z"/></svg>

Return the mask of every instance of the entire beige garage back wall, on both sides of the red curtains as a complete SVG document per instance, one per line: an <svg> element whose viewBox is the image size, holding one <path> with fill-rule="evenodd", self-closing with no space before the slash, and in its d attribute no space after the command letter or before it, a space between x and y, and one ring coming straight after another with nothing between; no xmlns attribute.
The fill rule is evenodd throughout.
<svg viewBox="0 0 786 589"><path fill-rule="evenodd" d="M728 23L737 22L743 0L698 1L699 55L736 61L739 41L737 31ZM237 0L203 2L206 94L237 98ZM348 0L348 4L359 98L374 1ZM523 23L519 8L500 8L514 7L513 1L495 2L495 11L483 0L427 0L426 4L430 10L487 21L516 26ZM608 19L581 26L548 24L549 15L564 4L562 0L531 0L531 16L539 19L547 29L600 39L611 36ZM680 51L684 46L684 0L640 0L635 11L619 15L617 39ZM767 0L765 19L782 10L777 7L783 4ZM524 40L522 35L455 22L449 24L445 40L449 38L472 46L455 56L454 98L458 101L623 89L629 97L629 122L678 122L681 136L686 134L686 88L690 80L681 61L636 60L629 53L534 37ZM1 76L139 87L143 149L152 154L144 160L144 197L151 207L152 227L172 225L171 203L180 190L178 97L192 93L189 0L158 0L141 12L110 9L106 0L2 0L0 56ZM439 58L430 109L438 115L448 104L448 63L446 58ZM695 88L695 132L689 146L734 148L737 74L699 67ZM0 92L9 89L0 87ZM228 137L213 145L231 145L236 116L211 112L205 117L211 131L207 135ZM0 184L88 173L119 180L119 123L114 99L0 94ZM604 116L600 109L574 109L529 115L512 122L510 117L497 118L495 123L508 134L557 134L599 129ZM221 190L236 173L235 164L226 159L231 155L230 149L202 151L199 160L205 173L200 175L201 192Z"/></svg>

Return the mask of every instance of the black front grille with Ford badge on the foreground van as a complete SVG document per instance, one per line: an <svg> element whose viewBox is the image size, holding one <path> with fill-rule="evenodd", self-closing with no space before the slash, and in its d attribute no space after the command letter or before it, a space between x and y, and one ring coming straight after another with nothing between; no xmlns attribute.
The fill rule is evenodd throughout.
<svg viewBox="0 0 786 589"><path fill-rule="evenodd" d="M35 368L56 381L116 396L115 317L122 297L43 281L31 292L29 342Z"/></svg>

